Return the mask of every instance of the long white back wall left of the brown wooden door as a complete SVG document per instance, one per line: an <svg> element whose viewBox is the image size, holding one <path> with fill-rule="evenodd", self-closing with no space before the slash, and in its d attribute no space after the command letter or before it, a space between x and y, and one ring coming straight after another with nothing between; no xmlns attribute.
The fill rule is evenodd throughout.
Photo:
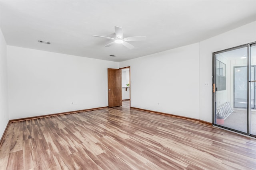
<svg viewBox="0 0 256 170"><path fill-rule="evenodd" d="M118 63L14 46L7 51L10 119L108 106L107 68Z"/></svg>

